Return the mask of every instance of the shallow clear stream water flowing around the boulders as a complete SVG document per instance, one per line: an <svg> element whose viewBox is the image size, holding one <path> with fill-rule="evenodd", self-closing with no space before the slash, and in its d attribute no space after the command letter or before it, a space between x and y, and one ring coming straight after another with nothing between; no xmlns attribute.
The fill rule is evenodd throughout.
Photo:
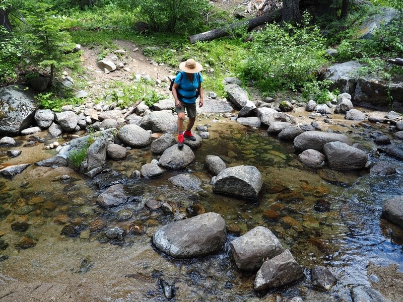
<svg viewBox="0 0 403 302"><path fill-rule="evenodd" d="M34 292L39 282L52 285L60 300L70 295L83 301L159 301L164 300L158 282L162 278L174 284L177 301L271 301L275 293L349 301L352 285L368 284L369 262L402 266L401 231L379 218L383 200L402 194L401 162L386 159L398 171L388 177L306 170L291 144L264 130L213 124L210 133L185 171L203 181L201 192L172 187L167 179L183 171L166 172L158 179L127 181L139 196L137 202L103 209L95 202L97 185L68 168L31 166L13 181L0 180L0 259L9 257L0 260L0 284L7 287L0 293ZM371 147L368 140L363 144ZM211 175L204 169L209 154L228 166L256 166L264 183L259 200L213 194ZM153 158L149 149L131 150L125 161L110 162L108 168L121 173L116 179L128 179ZM63 174L71 178L60 179ZM331 177L337 181L329 181ZM150 200L168 202L172 211L150 210L145 206ZM150 239L154 232L195 205L224 217L229 230L225 248L192 260L174 260L155 251ZM25 232L12 230L27 224ZM330 293L319 293L305 280L267 295L255 293L254 274L236 269L228 243L257 225L272 230L306 268L329 267L339 277L338 285ZM124 242L105 237L104 231L115 226L125 231Z"/></svg>

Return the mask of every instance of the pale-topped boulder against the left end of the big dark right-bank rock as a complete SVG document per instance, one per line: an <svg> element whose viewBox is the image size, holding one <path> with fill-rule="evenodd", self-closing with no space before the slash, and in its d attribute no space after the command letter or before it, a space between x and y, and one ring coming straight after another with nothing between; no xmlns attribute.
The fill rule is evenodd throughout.
<svg viewBox="0 0 403 302"><path fill-rule="evenodd" d="M330 89L339 89L341 92L347 92L354 95L356 89L356 78L358 69L362 65L357 61L348 61L335 64L326 69L324 78L333 82Z"/></svg>

